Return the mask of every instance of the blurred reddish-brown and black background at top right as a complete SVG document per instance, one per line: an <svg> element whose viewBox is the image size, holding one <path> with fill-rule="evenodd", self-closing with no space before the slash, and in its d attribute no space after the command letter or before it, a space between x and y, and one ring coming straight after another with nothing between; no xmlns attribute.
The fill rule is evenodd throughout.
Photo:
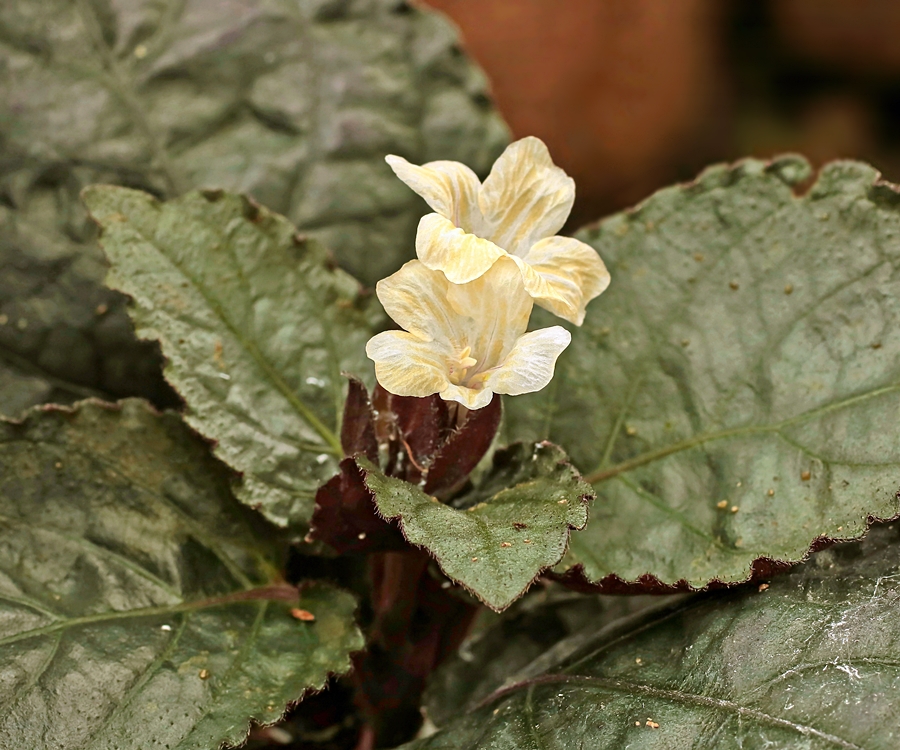
<svg viewBox="0 0 900 750"><path fill-rule="evenodd" d="M422 2L575 178L573 225L742 156L900 179L900 0Z"/></svg>

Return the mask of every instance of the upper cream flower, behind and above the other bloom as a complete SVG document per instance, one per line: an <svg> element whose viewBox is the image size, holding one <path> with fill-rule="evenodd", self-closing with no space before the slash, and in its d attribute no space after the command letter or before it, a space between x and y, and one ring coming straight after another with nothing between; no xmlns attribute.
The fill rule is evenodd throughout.
<svg viewBox="0 0 900 750"><path fill-rule="evenodd" d="M576 325L587 303L609 286L590 245L556 234L572 210L575 183L539 138L510 144L483 185L459 162L386 160L436 211L419 222L416 254L453 283L473 281L497 259L511 257L534 301Z"/></svg>

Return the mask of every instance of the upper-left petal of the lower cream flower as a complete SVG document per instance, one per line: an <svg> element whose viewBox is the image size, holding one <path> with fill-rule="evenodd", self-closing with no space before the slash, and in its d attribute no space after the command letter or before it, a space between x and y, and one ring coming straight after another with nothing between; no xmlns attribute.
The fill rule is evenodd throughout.
<svg viewBox="0 0 900 750"><path fill-rule="evenodd" d="M452 339L459 317L447 304L450 283L417 260L375 285L375 293L391 318L424 341Z"/></svg>

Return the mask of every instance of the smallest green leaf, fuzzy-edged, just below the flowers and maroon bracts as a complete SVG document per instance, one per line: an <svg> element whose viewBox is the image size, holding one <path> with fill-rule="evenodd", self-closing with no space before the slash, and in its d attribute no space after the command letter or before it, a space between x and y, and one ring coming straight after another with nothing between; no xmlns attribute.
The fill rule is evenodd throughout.
<svg viewBox="0 0 900 750"><path fill-rule="evenodd" d="M399 519L408 541L425 547L449 578L497 611L559 562L569 530L584 527L593 497L566 455L549 443L495 453L490 473L459 501L464 510L358 461L378 512Z"/></svg>

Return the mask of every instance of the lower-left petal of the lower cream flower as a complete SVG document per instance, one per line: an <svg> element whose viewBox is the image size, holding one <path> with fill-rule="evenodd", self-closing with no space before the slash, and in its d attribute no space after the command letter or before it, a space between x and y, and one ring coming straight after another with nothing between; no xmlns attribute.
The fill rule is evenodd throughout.
<svg viewBox="0 0 900 750"><path fill-rule="evenodd" d="M403 331L385 331L369 339L366 355L375 377L395 396L430 396L449 385L447 352L440 342L421 341Z"/></svg>

